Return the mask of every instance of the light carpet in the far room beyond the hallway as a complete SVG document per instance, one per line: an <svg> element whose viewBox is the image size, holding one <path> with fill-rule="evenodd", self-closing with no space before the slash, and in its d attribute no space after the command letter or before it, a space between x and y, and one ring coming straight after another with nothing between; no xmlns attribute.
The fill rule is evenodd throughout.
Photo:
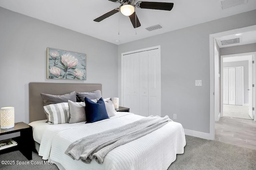
<svg viewBox="0 0 256 170"><path fill-rule="evenodd" d="M223 105L223 116L240 119L251 119L248 115L249 106Z"/></svg>

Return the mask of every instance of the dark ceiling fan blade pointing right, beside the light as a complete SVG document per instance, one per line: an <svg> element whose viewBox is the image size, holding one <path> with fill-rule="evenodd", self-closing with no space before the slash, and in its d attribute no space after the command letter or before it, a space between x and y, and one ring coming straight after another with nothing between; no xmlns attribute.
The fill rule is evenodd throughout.
<svg viewBox="0 0 256 170"><path fill-rule="evenodd" d="M173 3L168 2L137 2L138 8L153 9L153 10L166 10L170 11L173 8Z"/></svg>

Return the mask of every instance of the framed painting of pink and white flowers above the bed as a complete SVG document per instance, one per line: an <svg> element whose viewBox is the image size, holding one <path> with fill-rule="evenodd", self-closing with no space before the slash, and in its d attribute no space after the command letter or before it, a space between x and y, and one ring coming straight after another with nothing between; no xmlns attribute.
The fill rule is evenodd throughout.
<svg viewBox="0 0 256 170"><path fill-rule="evenodd" d="M48 47L47 79L86 80L86 54Z"/></svg>

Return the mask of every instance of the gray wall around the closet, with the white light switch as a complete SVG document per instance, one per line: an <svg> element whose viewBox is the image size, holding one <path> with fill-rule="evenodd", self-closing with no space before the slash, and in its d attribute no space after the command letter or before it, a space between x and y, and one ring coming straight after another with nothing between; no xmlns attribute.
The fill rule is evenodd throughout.
<svg viewBox="0 0 256 170"><path fill-rule="evenodd" d="M161 45L162 116L185 129L210 132L209 34L256 25L256 10L167 32L118 46L118 94L121 53ZM202 80L202 86L195 86Z"/></svg>

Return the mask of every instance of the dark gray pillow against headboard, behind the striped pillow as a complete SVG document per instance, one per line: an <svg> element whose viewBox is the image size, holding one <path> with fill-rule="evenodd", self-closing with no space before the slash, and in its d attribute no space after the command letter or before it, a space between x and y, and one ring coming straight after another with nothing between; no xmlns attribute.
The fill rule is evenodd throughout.
<svg viewBox="0 0 256 170"><path fill-rule="evenodd" d="M68 102L68 100L76 102L76 91L73 91L65 95L49 95L41 93L41 96L45 106L50 104Z"/></svg>

